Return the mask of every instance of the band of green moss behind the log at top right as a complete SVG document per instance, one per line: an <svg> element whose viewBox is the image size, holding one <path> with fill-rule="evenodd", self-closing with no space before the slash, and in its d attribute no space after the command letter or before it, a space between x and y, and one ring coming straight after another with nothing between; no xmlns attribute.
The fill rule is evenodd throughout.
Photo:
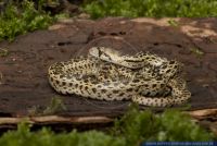
<svg viewBox="0 0 217 146"><path fill-rule="evenodd" d="M217 16L216 0L94 0L84 10L92 19L104 16L205 17Z"/></svg>

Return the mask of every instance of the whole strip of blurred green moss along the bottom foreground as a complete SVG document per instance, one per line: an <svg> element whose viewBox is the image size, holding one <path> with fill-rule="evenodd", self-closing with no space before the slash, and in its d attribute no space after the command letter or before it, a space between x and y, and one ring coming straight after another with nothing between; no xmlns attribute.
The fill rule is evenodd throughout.
<svg viewBox="0 0 217 146"><path fill-rule="evenodd" d="M3 146L137 146L142 142L207 142L214 136L199 126L191 118L178 110L166 110L154 114L140 111L137 106L119 120L110 132L99 131L53 133L43 127L30 132L30 126L21 123L17 131L10 131L0 137Z"/></svg>

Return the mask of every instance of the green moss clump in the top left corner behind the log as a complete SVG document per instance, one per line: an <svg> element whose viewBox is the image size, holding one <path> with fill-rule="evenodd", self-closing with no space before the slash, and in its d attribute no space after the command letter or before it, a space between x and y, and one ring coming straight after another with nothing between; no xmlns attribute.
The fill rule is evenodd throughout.
<svg viewBox="0 0 217 146"><path fill-rule="evenodd" d="M28 0L24 0L21 8L10 3L0 15L0 40L12 41L17 35L47 28L53 21L54 17L42 10L36 10Z"/></svg>

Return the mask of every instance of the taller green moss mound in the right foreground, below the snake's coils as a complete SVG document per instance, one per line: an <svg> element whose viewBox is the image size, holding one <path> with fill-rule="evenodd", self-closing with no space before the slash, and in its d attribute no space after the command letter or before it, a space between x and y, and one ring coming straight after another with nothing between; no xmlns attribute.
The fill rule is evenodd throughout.
<svg viewBox="0 0 217 146"><path fill-rule="evenodd" d="M113 135L126 137L129 146L141 142L204 142L213 135L200 127L191 118L179 110L166 110L154 114L150 110L130 109L115 122Z"/></svg>

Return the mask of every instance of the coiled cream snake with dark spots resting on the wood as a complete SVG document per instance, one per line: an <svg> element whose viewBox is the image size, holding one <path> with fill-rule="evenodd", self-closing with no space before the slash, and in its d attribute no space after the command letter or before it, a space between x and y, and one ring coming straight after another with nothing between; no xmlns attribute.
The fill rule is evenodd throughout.
<svg viewBox="0 0 217 146"><path fill-rule="evenodd" d="M111 48L92 47L89 57L52 64L48 76L61 94L166 107L183 104L191 97L180 75L181 66L178 61L156 54L122 56Z"/></svg>

